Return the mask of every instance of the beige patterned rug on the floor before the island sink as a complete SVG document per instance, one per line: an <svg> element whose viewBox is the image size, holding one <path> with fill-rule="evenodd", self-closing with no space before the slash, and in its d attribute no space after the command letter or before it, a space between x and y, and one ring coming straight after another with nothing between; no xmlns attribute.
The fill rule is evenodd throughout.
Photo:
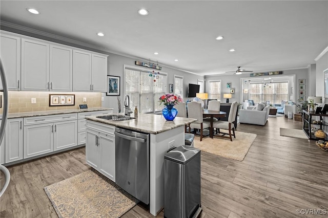
<svg viewBox="0 0 328 218"><path fill-rule="evenodd" d="M92 170L44 188L59 217L120 217L137 200Z"/></svg>

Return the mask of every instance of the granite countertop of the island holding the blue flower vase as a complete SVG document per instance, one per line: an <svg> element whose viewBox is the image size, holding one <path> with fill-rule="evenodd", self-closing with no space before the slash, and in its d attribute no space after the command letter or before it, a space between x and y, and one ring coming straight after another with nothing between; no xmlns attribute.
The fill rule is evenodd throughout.
<svg viewBox="0 0 328 218"><path fill-rule="evenodd" d="M131 114L131 117L134 117L133 113ZM106 120L96 118L95 116L89 116L86 117L86 119L149 134L159 134L179 126L189 125L190 123L197 121L197 119L182 117L176 117L173 121L167 121L161 115L140 113L138 114L137 119L124 121Z"/></svg>

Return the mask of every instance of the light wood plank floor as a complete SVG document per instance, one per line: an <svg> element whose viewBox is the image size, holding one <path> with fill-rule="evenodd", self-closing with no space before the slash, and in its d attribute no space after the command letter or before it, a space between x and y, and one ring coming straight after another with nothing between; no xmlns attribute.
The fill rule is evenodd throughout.
<svg viewBox="0 0 328 218"><path fill-rule="evenodd" d="M202 152L202 217L328 216L328 152L315 141L280 136L279 127L302 126L284 117L269 117L264 127L238 124L238 131L257 134L241 162ZM89 168L85 148L10 166L0 217L57 217L43 188ZM327 213L297 214L297 209ZM152 215L137 205L124 217Z"/></svg>

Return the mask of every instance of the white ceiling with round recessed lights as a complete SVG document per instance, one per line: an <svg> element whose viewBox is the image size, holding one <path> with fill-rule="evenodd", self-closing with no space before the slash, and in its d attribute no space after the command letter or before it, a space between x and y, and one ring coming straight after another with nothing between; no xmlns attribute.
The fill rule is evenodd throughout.
<svg viewBox="0 0 328 218"><path fill-rule="evenodd" d="M140 8L149 15L137 14ZM104 51L216 75L237 66L268 72L315 63L328 46L327 11L328 1L1 0L0 13L2 21ZM224 39L215 40L218 35Z"/></svg>

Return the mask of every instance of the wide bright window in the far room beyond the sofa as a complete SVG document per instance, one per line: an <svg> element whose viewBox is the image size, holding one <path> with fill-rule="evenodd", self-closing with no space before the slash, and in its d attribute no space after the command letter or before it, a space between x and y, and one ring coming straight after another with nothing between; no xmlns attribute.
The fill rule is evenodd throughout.
<svg viewBox="0 0 328 218"><path fill-rule="evenodd" d="M282 100L289 100L288 82L250 83L249 99L254 102L280 104Z"/></svg>

